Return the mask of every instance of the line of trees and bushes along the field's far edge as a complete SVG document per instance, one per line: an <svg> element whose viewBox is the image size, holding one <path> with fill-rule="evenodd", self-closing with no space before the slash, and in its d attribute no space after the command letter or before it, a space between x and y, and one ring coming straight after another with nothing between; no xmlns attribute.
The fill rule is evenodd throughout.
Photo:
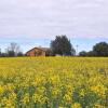
<svg viewBox="0 0 108 108"><path fill-rule="evenodd" d="M71 44L70 40L67 36L56 36L54 40L51 41L50 49L46 51L48 56L76 56L76 49ZM13 56L25 56L21 46L12 42L6 48L5 52L2 53L0 49L1 57L13 57ZM108 56L108 43L99 42L96 43L92 51L81 51L77 56Z"/></svg>

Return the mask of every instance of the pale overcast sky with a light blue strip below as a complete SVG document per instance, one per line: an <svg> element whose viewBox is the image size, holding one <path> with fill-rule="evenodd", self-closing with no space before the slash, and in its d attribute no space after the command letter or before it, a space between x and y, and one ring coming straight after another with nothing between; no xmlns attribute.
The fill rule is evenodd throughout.
<svg viewBox="0 0 108 108"><path fill-rule="evenodd" d="M108 0L0 0L1 46L16 39L26 46L33 40L48 45L56 35L80 45L108 41Z"/></svg>

